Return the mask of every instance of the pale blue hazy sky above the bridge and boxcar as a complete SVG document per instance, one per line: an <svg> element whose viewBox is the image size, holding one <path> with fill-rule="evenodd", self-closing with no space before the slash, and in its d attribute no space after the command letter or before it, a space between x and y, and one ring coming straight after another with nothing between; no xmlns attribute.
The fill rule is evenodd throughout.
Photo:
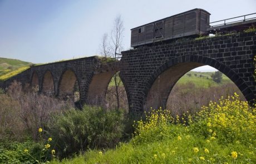
<svg viewBox="0 0 256 164"><path fill-rule="evenodd" d="M99 54L117 14L129 49L131 28L194 8L213 22L255 13L256 0L0 0L0 57L45 63Z"/></svg>

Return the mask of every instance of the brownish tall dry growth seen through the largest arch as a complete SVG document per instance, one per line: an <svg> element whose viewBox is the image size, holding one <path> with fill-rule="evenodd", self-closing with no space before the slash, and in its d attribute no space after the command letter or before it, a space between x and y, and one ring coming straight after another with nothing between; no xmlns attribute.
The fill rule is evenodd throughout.
<svg viewBox="0 0 256 164"><path fill-rule="evenodd" d="M177 84L170 93L166 108L174 115L181 115L186 111L195 113L206 106L210 101L218 101L221 96L227 97L234 92L238 93L243 101L245 98L242 92L234 83L227 83L221 86L209 86L208 88L197 87L194 83Z"/></svg>

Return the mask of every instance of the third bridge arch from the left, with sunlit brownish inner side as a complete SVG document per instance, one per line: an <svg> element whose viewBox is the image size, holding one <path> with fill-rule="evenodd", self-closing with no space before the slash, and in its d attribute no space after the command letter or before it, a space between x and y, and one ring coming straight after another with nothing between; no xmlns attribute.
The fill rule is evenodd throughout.
<svg viewBox="0 0 256 164"><path fill-rule="evenodd" d="M58 96L62 98L70 97L72 100L74 98L74 87L76 81L78 82L75 71L71 68L65 69L58 82ZM80 90L80 83L78 82L78 88Z"/></svg>

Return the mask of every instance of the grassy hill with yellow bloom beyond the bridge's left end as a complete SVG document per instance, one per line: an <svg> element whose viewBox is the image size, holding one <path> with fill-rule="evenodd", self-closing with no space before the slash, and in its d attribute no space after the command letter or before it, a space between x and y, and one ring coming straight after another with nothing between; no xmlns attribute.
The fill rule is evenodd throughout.
<svg viewBox="0 0 256 164"><path fill-rule="evenodd" d="M29 68L30 62L0 57L0 80L4 81Z"/></svg>

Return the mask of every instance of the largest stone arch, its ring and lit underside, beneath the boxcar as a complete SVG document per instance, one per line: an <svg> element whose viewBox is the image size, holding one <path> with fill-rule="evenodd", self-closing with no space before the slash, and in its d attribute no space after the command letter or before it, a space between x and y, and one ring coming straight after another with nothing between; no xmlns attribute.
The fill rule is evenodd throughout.
<svg viewBox="0 0 256 164"><path fill-rule="evenodd" d="M215 59L200 55L187 55L171 59L162 64L151 74L150 80L145 86L145 100L143 109L150 107L165 107L171 89L175 83L188 71L193 68L209 65L224 73L242 91L247 101L252 102L254 94L242 78L229 67L221 64ZM171 76L171 77L170 77Z"/></svg>

